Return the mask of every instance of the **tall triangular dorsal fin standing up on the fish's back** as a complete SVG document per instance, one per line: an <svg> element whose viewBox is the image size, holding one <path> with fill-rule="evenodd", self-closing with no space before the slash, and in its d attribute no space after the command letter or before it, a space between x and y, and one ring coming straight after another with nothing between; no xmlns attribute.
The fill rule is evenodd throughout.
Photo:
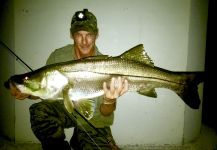
<svg viewBox="0 0 217 150"><path fill-rule="evenodd" d="M145 63L146 65L154 66L153 61L144 50L143 44L139 44L129 49L128 51L121 54L119 57L121 57L122 59L133 60L140 63Z"/></svg>

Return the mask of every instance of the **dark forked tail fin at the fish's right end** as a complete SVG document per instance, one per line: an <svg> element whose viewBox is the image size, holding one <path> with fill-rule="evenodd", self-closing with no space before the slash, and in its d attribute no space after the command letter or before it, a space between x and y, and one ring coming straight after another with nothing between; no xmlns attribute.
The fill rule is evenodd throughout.
<svg viewBox="0 0 217 150"><path fill-rule="evenodd" d="M185 73L185 84L176 93L193 109L199 109L200 97L198 85L204 81L204 72Z"/></svg>

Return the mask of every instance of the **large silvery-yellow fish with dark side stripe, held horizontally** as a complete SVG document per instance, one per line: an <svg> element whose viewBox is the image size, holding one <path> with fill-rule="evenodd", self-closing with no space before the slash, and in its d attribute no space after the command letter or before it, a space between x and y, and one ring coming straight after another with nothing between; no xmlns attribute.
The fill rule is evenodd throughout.
<svg viewBox="0 0 217 150"><path fill-rule="evenodd" d="M72 101L103 95L103 82L110 82L112 77L118 76L128 80L129 91L157 97L155 88L167 88L191 108L199 108L197 86L203 82L203 72L174 72L156 67L142 44L116 57L87 57L14 75L5 86L9 88L12 83L22 93L41 99L63 99L67 110L72 112Z"/></svg>

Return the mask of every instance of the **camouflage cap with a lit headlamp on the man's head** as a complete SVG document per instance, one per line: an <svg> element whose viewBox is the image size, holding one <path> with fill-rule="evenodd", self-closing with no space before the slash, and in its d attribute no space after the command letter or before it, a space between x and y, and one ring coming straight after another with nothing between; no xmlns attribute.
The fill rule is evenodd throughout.
<svg viewBox="0 0 217 150"><path fill-rule="evenodd" d="M88 9L77 11L72 17L70 30L71 34L81 30L97 34L97 19L93 13L88 11Z"/></svg>

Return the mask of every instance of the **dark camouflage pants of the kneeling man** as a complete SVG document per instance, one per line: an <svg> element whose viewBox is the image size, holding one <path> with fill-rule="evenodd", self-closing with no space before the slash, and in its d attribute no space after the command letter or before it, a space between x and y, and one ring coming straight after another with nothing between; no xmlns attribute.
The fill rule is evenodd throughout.
<svg viewBox="0 0 217 150"><path fill-rule="evenodd" d="M118 149L110 127L97 128L77 125L76 114L70 115L62 101L42 101L30 107L31 128L44 150L111 150ZM65 128L74 127L70 145L65 141ZM108 142L111 141L111 142Z"/></svg>

